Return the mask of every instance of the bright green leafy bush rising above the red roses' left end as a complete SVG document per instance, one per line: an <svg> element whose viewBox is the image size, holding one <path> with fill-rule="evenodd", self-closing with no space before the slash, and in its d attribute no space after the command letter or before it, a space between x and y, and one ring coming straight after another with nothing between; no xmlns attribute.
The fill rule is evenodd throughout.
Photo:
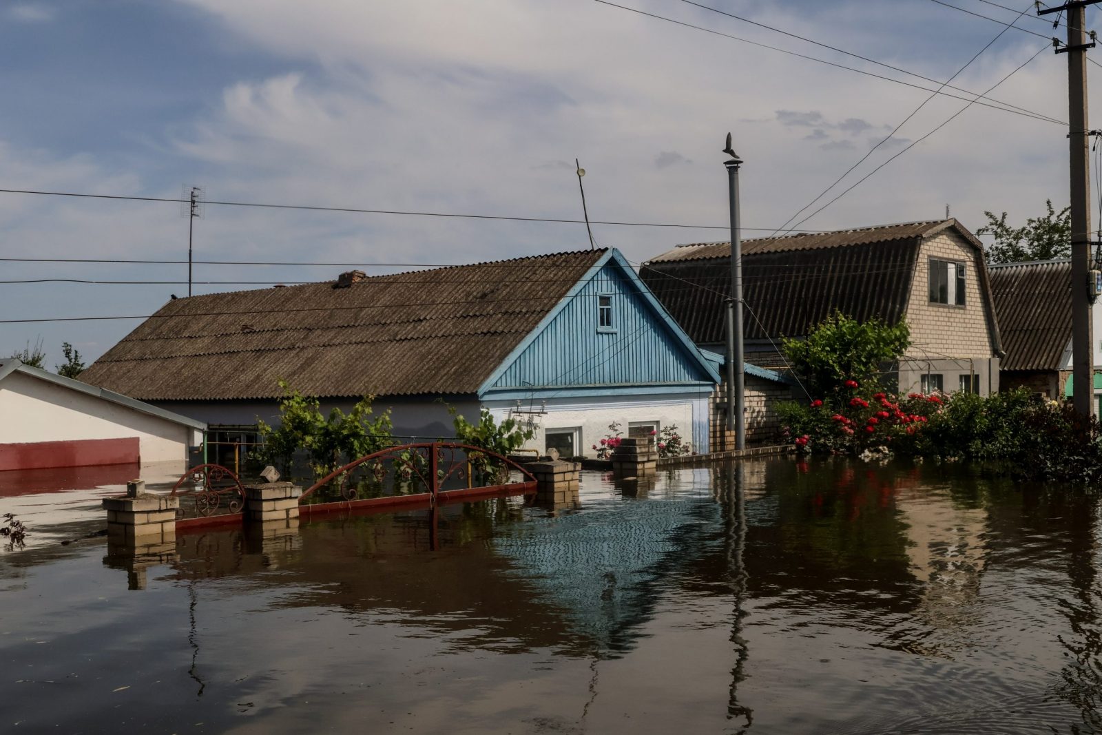
<svg viewBox="0 0 1102 735"><path fill-rule="evenodd" d="M781 349L811 396L827 396L846 381L879 385L885 364L910 346L910 329L900 320L858 322L834 312L807 339L785 339Z"/></svg>

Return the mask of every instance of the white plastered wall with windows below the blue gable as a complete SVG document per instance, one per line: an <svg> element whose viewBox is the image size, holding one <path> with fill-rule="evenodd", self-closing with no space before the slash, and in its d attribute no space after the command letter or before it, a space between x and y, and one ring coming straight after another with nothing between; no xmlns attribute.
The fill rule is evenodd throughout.
<svg viewBox="0 0 1102 735"><path fill-rule="evenodd" d="M497 421L501 421L509 417L509 410L516 407L516 401L486 401L485 406ZM534 407L538 410L540 401L537 400ZM522 401L522 409L529 409L528 401ZM525 418L525 414L517 418ZM707 439L707 396L688 398L684 394L642 394L550 399L547 413L533 418L538 423L536 436L526 447L537 450L540 454L547 447L544 440L548 429L581 429L581 453L595 456L596 452L592 447L594 444L599 446L601 440L609 434L608 424L613 421L620 423L624 436L628 435L631 422L657 421L661 428L677 424L682 439L699 451L702 442ZM703 432L694 432L694 424L703 426ZM698 436L698 433L703 433L703 436Z"/></svg>

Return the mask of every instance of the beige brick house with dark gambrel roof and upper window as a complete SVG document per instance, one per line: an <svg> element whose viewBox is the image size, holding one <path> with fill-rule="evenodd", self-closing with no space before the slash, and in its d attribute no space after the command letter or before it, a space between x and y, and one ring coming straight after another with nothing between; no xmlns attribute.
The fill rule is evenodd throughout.
<svg viewBox="0 0 1102 735"><path fill-rule="evenodd" d="M730 242L682 245L640 277L693 341L724 344ZM955 219L743 242L747 361L781 368L774 341L803 337L835 310L905 318L912 346L893 368L900 391L998 388L998 327L981 242Z"/></svg>

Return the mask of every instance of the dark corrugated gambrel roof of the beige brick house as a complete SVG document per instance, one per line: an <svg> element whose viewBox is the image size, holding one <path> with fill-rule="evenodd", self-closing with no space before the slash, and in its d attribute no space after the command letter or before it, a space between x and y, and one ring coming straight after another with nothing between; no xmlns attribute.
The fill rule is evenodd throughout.
<svg viewBox="0 0 1102 735"><path fill-rule="evenodd" d="M949 228L982 250L955 219L745 240L746 339L803 336L834 310L897 322L922 238ZM694 342L720 344L730 258L730 242L682 245L644 263L639 274Z"/></svg>

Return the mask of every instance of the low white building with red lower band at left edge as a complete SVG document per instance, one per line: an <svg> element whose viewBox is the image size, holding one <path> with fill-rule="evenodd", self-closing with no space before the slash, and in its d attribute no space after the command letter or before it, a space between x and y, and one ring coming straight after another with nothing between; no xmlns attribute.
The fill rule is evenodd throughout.
<svg viewBox="0 0 1102 735"><path fill-rule="evenodd" d="M205 429L14 358L0 363L0 471L183 464Z"/></svg>

